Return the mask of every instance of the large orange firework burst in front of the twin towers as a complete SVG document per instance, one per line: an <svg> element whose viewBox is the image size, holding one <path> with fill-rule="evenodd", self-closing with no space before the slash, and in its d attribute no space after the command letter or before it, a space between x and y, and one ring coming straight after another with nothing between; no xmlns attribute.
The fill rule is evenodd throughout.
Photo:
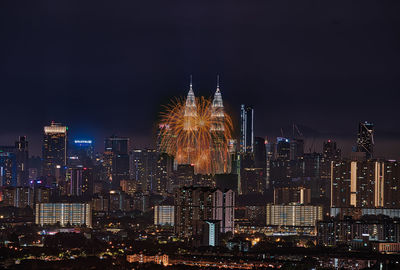
<svg viewBox="0 0 400 270"><path fill-rule="evenodd" d="M175 99L161 113L161 150L178 164L193 164L195 173L228 173L232 121L221 106L204 97Z"/></svg>

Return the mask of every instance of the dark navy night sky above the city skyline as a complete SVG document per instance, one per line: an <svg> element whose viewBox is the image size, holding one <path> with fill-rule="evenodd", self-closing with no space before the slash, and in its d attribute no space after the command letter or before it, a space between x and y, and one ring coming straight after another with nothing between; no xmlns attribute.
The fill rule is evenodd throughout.
<svg viewBox="0 0 400 270"><path fill-rule="evenodd" d="M152 144L162 104L215 91L255 107L256 135L354 144L375 124L377 155L400 158L400 1L1 1L0 144L42 128ZM236 130L238 126L236 125Z"/></svg>

